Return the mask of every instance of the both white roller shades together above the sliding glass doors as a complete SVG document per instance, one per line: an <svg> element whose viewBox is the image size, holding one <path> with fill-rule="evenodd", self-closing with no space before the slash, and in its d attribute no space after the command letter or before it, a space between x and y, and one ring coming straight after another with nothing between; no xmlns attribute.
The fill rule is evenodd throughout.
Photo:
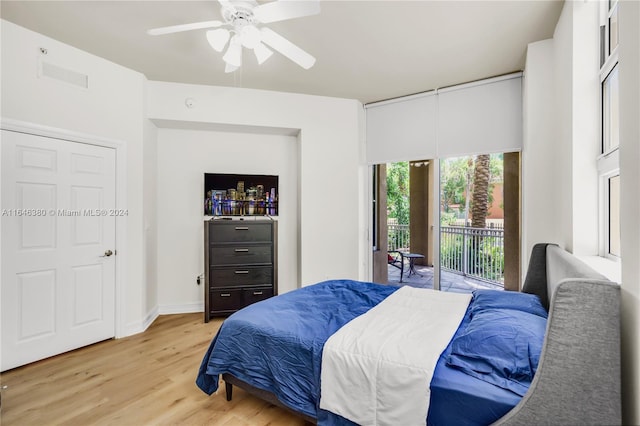
<svg viewBox="0 0 640 426"><path fill-rule="evenodd" d="M522 149L522 73L366 105L367 163Z"/></svg>

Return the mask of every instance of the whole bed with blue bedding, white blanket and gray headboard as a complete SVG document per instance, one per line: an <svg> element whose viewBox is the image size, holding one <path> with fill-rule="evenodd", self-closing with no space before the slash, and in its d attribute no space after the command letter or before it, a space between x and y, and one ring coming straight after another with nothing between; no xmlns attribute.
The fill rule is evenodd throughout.
<svg viewBox="0 0 640 426"><path fill-rule="evenodd" d="M391 300L402 299L402 289L333 280L250 305L224 321L205 354L196 383L211 394L217 391L222 376L227 399L232 397L232 387L239 386L320 425L405 424L389 419L417 405L420 410L426 406L427 411L413 413L411 424L620 423L619 287L566 251L548 244L534 247L524 293L477 292L466 302L442 351L429 361L434 368L431 364L424 367L430 371L426 397L422 398L427 399L425 404L409 402L415 392L405 386L409 377L406 371L387 369L381 375L384 380L371 386L391 383L385 398L393 402L355 413L356 417L351 413L340 415L340 407L325 409L325 401L331 400L325 395L327 388L338 390L338 396L333 395L337 400L343 392L347 410L370 401L361 397L368 391L349 389L352 379L334 385L325 377L330 366L342 362L327 361L330 358L326 352L344 330L362 323L372 313L384 312L382 307L388 307ZM415 293L408 296L404 297L409 300L406 303L413 304L417 299ZM427 311L441 303L432 304ZM420 312L420 308L414 310ZM415 314L411 315L405 322L416 322ZM373 321L377 324L375 334L384 321ZM395 347L402 340L430 341L422 328L418 330L423 333L420 338L410 338L416 333L413 330L407 338L400 336L393 344L378 346ZM515 330L506 339L505 328ZM359 334L367 334L364 329L356 330L356 339ZM356 339L346 337L343 343L351 343L356 350L367 346L353 344ZM476 353L478 346L484 352L480 356ZM345 350L338 347L334 352ZM423 358L414 356L413 348L407 352L415 359ZM349 353L347 358L356 359L356 364L346 368L360 370L360 379L367 380L373 374L362 361L367 356L357 358ZM396 365L400 367L404 361ZM423 370L419 371L414 376L422 376ZM402 379L395 380L399 386L394 387L395 378ZM359 379L353 380L357 383ZM321 382L332 385L323 388ZM425 387L420 380L416 382ZM362 400L358 402L357 398ZM383 415L376 414L370 420L367 416L371 411ZM360 414L364 417L357 417Z"/></svg>

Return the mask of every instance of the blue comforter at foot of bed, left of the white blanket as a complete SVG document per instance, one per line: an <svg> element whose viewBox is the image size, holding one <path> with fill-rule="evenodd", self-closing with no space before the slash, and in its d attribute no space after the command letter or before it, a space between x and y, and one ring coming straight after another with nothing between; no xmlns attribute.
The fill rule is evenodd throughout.
<svg viewBox="0 0 640 426"><path fill-rule="evenodd" d="M399 287L325 281L250 305L227 318L211 342L196 383L211 394L230 373L317 417L324 343ZM287 321L282 321L287 319Z"/></svg>

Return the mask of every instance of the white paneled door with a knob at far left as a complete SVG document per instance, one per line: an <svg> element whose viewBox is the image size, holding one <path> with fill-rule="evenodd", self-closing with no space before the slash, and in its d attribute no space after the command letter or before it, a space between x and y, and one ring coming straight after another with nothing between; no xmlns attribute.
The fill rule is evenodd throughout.
<svg viewBox="0 0 640 426"><path fill-rule="evenodd" d="M115 150L2 130L2 371L115 335Z"/></svg>

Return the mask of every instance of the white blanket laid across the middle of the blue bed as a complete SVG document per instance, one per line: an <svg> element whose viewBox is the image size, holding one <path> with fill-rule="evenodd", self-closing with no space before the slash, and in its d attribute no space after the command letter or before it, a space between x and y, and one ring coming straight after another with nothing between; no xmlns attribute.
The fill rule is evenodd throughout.
<svg viewBox="0 0 640 426"><path fill-rule="evenodd" d="M363 426L424 426L433 371L470 300L405 286L344 325L323 349L320 408Z"/></svg>

